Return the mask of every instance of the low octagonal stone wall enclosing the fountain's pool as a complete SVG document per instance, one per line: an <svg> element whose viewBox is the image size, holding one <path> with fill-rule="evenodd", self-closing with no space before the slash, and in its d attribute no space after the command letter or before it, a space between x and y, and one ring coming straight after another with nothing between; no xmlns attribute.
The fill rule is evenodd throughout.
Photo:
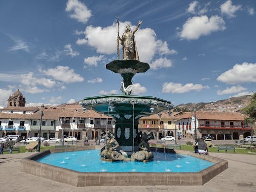
<svg viewBox="0 0 256 192"><path fill-rule="evenodd" d="M50 164L45 164L38 162L39 159L48 156L49 154L54 155L54 153L60 152L74 152L88 150L99 150L98 146L85 146L76 148L56 148L47 150L35 155L32 155L26 159L20 161L20 170L22 172L35 175L38 177L50 179L53 181L70 184L73 186L83 187L83 186L121 186L121 185L203 185L210 179L214 178L225 169L228 168L228 163L226 160L207 156L198 155L189 151L182 150L168 150L165 152L176 153L177 157L183 155L194 156L199 159L203 159L212 162L212 165L207 168L200 170L199 172L188 172L188 173L173 173L172 170L165 169L164 172L106 172L107 170L100 170L99 172L77 172L68 168L62 168L58 166L53 166ZM151 148L154 152L155 149ZM158 148L158 152L163 152L163 148ZM98 158L98 156L96 157ZM69 161L69 157L66 158ZM102 161L103 162L103 161ZM61 162L60 162L61 163ZM62 162L65 164L65 160ZM119 162L125 163L125 162ZM142 162L139 162L142 163ZM155 161L158 163L158 160ZM189 163L189 162L187 162ZM104 164L104 163L103 163ZM114 163L113 163L114 165ZM77 166L87 166L86 161L81 164L77 163ZM178 165L180 167L182 165ZM179 168L179 167L178 167ZM107 169L107 168L106 168Z"/></svg>

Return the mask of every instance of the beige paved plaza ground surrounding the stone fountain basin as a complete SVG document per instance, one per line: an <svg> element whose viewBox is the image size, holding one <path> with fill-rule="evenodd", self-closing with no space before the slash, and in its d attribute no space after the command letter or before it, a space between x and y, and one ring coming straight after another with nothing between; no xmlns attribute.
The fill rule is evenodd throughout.
<svg viewBox="0 0 256 192"><path fill-rule="evenodd" d="M34 191L256 191L256 156L210 153L228 160L229 168L203 186L94 186L74 187L19 172L19 160L33 153L0 155L0 190L12 192ZM145 175L146 179L146 175Z"/></svg>

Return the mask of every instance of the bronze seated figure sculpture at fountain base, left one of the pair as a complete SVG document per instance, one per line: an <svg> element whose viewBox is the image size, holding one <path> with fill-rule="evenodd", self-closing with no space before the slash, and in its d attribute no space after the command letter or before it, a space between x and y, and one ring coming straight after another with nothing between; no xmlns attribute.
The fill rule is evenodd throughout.
<svg viewBox="0 0 256 192"><path fill-rule="evenodd" d="M114 135L108 132L106 135L106 148L105 146L101 149L101 157L104 159L110 159L114 161L120 161L124 159L124 156L117 151L119 143L114 138Z"/></svg>

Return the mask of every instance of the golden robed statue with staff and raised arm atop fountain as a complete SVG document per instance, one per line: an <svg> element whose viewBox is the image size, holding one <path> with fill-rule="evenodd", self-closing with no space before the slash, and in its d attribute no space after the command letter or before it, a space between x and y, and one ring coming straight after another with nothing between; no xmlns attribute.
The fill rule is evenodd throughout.
<svg viewBox="0 0 256 192"><path fill-rule="evenodd" d="M119 37L119 21L118 24L118 36L117 39L121 41L121 45L123 46L123 53L122 53L122 60L128 60L128 59L136 59L139 60L139 55L137 51L136 41L135 41L135 32L138 31L140 24L142 24L141 20L139 21L136 29L134 31L131 30L131 26L127 25L125 27L124 33L122 35L122 38ZM119 41L117 42L119 48ZM118 55L119 55L119 49Z"/></svg>

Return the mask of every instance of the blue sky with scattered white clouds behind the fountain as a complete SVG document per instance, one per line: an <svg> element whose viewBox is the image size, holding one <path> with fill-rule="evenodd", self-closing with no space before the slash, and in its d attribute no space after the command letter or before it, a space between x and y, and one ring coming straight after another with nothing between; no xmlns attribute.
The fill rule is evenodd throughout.
<svg viewBox="0 0 256 192"><path fill-rule="evenodd" d="M173 104L256 92L255 1L0 0L0 106L19 89L27 106L121 94L105 69L120 36L135 29L134 95ZM121 47L121 45L120 45Z"/></svg>

